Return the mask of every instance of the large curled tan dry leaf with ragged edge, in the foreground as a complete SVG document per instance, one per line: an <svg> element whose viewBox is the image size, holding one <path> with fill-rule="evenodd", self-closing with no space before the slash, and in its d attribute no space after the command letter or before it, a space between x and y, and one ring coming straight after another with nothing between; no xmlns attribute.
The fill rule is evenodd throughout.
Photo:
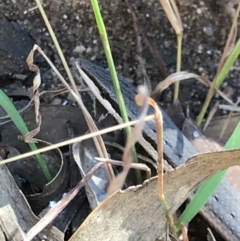
<svg viewBox="0 0 240 241"><path fill-rule="evenodd" d="M204 153L164 175L165 197L174 213L207 178L240 164L240 150ZM166 214L158 197L157 178L119 191L97 207L70 241L152 241L165 235Z"/></svg>

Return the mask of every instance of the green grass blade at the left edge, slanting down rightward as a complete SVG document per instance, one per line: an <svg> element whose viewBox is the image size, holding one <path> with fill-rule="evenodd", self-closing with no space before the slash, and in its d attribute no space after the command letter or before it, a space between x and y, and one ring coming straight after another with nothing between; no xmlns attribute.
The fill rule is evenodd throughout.
<svg viewBox="0 0 240 241"><path fill-rule="evenodd" d="M21 132L23 136L25 136L29 131L28 128L23 121L21 115L18 113L14 105L12 104L11 100L8 98L8 96L0 90L0 105L3 107L3 109L7 112L7 114L11 117L13 123L16 125L18 130ZM34 143L28 143L31 150L37 150L37 146ZM41 166L44 175L47 178L47 181L50 182L52 180L52 176L48 170L48 167L43 160L43 157L40 154L36 155L36 158L39 162L39 165Z"/></svg>

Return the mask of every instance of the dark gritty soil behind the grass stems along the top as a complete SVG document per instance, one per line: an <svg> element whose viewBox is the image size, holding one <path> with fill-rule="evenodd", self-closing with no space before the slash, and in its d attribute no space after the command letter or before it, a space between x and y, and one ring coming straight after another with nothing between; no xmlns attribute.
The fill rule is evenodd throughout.
<svg viewBox="0 0 240 241"><path fill-rule="evenodd" d="M231 27L230 12L226 8L226 2L230 1L178 1L184 26L182 70L205 75L210 80L213 79ZM175 72L176 36L158 1L129 0L129 4L127 5L124 0L101 1L102 15L115 65L117 71L133 81L134 84L142 83L142 69L137 58L139 50L141 50L148 77L152 86L155 87L169 73ZM138 25L138 33L134 29L129 6L138 20L135 22ZM9 21L17 22L28 29L31 37L44 50L58 70L64 73L42 17L38 9L31 10L33 7L35 7L35 1L1 0L0 17L4 16ZM84 55L107 67L89 0L44 0L43 7L69 63ZM138 48L138 37L140 37L142 49ZM160 61L159 56L163 62ZM42 57L37 57L37 64L42 72L44 88L58 88L57 77ZM239 61L232 68L222 87L225 93L231 92L230 98L234 101L240 94L238 70ZM24 75L26 78L22 84L31 86L32 75L30 71L24 71ZM189 103L192 117L195 118L199 113L206 93L207 88L196 80L191 79L182 83L182 103ZM172 90L169 89L159 100L164 104L171 103L172 95ZM211 105L216 100L221 99L215 96ZM223 101L221 100L221 102ZM226 112L219 111L218 114L226 114ZM191 240L204 240L200 234L205 234L206 229L199 229L199 226L202 225L198 225L199 223L204 224L204 220L198 216L195 221L194 228L197 232L192 232L194 234Z"/></svg>

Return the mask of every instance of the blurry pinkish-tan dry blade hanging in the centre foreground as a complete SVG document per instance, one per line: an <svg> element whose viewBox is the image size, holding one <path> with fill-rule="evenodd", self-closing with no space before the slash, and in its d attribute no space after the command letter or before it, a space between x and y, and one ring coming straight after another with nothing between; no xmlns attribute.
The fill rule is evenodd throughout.
<svg viewBox="0 0 240 241"><path fill-rule="evenodd" d="M110 185L107 191L108 196L110 196L112 193L122 188L124 181L127 177L128 171L131 167L131 162L132 162L131 148L137 142L143 130L144 118L147 115L147 110L148 110L148 103L147 103L148 91L147 91L147 88L144 86L139 86L138 91L139 91L139 94L137 95L138 98L136 99L136 102L137 104L142 106L142 112L139 117L138 123L135 125L133 131L131 132L131 134L128 136L128 139L127 139L127 144L124 149L123 157L122 157L123 171L110 182Z"/></svg>

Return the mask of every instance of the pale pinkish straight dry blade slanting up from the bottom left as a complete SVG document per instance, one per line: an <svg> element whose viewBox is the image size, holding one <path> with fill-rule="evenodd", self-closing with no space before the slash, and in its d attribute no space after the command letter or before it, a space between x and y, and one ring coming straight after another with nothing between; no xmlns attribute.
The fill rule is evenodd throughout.
<svg viewBox="0 0 240 241"><path fill-rule="evenodd" d="M40 219L40 221L32 227L26 234L24 240L32 240L38 233L40 233L47 225L49 225L58 214L68 205L68 203L78 194L78 192L83 188L88 179L93 175L93 173L102 165L103 163L98 163L95 165L91 171L77 184L75 188L68 192L53 208L51 208L47 214Z"/></svg>

